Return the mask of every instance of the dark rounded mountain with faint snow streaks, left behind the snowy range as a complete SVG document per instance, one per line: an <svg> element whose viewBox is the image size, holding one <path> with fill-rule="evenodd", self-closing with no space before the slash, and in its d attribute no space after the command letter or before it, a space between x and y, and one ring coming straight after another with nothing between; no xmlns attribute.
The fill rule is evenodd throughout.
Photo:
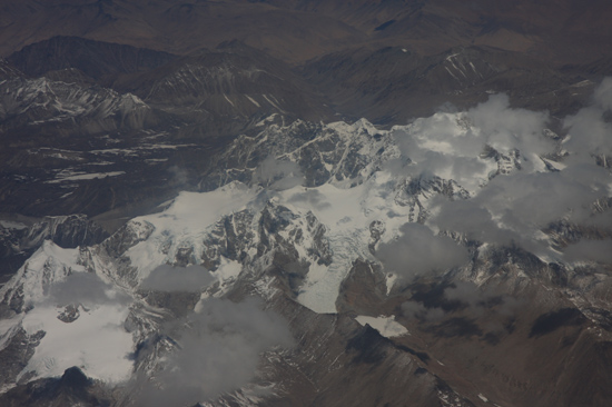
<svg viewBox="0 0 612 407"><path fill-rule="evenodd" d="M182 117L201 115L203 108L211 117L245 122L273 112L306 119L328 113L322 99L288 66L239 41L194 52L116 87Z"/></svg>

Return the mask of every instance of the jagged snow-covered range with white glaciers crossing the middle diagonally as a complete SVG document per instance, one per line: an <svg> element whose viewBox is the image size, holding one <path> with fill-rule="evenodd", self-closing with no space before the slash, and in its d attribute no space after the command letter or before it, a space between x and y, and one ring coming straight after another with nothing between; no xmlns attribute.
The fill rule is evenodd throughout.
<svg viewBox="0 0 612 407"><path fill-rule="evenodd" d="M491 111L527 125L502 120L495 127L486 118ZM158 369L190 346L189 334L172 337L186 332L178 325L194 322L180 317L194 312L206 321L211 304L225 297L258 296L270 307L297 302L325 318L316 314L351 310L359 300L353 297L364 292L359 285L372 281L373 298L402 299L403 288L422 276L485 285L503 266L525 280L525 269L549 272L541 259L563 256L545 228L569 210L586 216L585 204L610 191L606 169L557 162L563 158L552 152L559 146L542 130L541 117L512 111L502 99L391 130L367 120L268 119L216 158L200 191L178 193L160 212L131 219L100 245L41 246L0 290L13 312L0 343L18 332L38 341L20 378L55 377L73 365L110 383L131 369L164 378ZM175 270L187 267L206 282L166 289L164 279L176 282L181 277ZM160 269L161 281L146 282ZM65 301L58 294L75 276L93 278L77 285L95 289L95 301ZM354 315L393 340L407 338L401 316L366 316L378 312ZM168 337L158 335L172 319L180 322ZM91 338L92 330L99 336ZM63 341L79 355L60 349ZM125 357L139 351L146 356Z"/></svg>

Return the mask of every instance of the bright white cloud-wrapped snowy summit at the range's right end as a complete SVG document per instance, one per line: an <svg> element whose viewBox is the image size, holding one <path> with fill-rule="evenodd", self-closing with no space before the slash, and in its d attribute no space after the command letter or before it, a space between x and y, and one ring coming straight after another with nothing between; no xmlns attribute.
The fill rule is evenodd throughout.
<svg viewBox="0 0 612 407"><path fill-rule="evenodd" d="M527 172L543 169L539 156L555 150L544 136L547 121L546 112L512 109L507 96L494 95L466 112L438 112L396 128L394 137L412 161L404 169L409 176L435 175L476 191L497 170L493 157L481 157L486 146L506 156L520 151Z"/></svg>

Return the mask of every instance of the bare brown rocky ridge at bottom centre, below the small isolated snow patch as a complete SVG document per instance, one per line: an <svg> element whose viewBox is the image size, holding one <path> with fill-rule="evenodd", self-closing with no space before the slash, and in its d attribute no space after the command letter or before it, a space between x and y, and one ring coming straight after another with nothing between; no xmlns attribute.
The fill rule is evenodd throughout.
<svg viewBox="0 0 612 407"><path fill-rule="evenodd" d="M247 286L236 288L233 295L248 291ZM272 299L270 306L292 321L292 332L299 341L289 351L265 355L258 380L275 383L278 389L266 405L438 406L441 400L448 400L448 405L472 406L428 371L426 356L415 355L369 326L361 327L342 314L317 315L282 294ZM394 379L387 381L389 377ZM382 381L384 386L363 391L364 386ZM229 400L235 398L224 396L210 405Z"/></svg>

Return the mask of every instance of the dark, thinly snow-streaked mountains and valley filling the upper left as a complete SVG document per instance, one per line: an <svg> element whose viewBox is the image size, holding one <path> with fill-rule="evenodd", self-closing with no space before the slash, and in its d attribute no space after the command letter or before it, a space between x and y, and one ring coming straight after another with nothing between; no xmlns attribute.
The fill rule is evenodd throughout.
<svg viewBox="0 0 612 407"><path fill-rule="evenodd" d="M150 206L152 196L159 204L263 118L332 115L283 62L237 42L176 58L62 37L2 63L6 212L95 216Z"/></svg>

